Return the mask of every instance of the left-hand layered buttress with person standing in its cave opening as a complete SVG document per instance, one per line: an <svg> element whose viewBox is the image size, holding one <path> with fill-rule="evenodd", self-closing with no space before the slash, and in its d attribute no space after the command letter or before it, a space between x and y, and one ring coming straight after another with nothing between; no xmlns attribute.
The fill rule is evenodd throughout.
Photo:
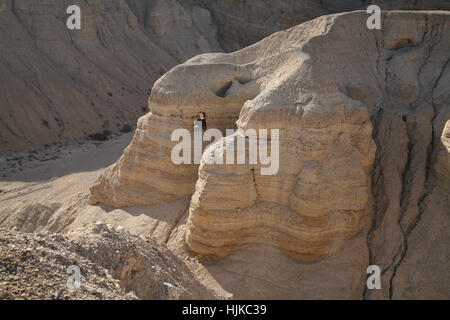
<svg viewBox="0 0 450 320"><path fill-rule="evenodd" d="M138 121L130 146L119 161L91 188L92 203L117 207L153 205L191 195L195 190L198 165L176 165L171 158L175 129L193 130L199 111L208 126L225 131L233 128L242 104L257 94L256 82L245 67L219 64L180 65L159 79L149 99L150 113ZM222 97L232 81L239 88L232 97ZM230 89L231 90L231 89ZM193 162L193 161L192 161Z"/></svg>

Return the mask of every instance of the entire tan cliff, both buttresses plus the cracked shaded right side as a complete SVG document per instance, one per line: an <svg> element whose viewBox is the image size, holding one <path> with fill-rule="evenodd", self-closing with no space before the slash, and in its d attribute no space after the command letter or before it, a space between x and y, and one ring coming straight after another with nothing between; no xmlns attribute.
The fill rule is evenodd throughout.
<svg viewBox="0 0 450 320"><path fill-rule="evenodd" d="M91 202L192 194L185 239L200 256L262 244L310 261L339 255L358 234L365 240L347 258L367 260L348 267L361 277L364 265L383 271L382 290L363 297L445 297L450 16L384 13L381 30L368 30L366 18L324 16L172 69ZM279 129L279 171L206 163L239 132L208 149L199 167L172 164L170 132L192 130L198 111L222 131ZM435 268L447 278L433 278Z"/></svg>

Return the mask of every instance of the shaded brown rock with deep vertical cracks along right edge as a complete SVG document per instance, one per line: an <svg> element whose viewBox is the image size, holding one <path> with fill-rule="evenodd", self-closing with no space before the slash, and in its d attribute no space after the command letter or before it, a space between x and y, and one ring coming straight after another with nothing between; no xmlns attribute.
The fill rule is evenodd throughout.
<svg viewBox="0 0 450 320"><path fill-rule="evenodd" d="M436 176L441 136L450 118L448 17L416 16L422 30L420 44L395 32L400 13L387 14L388 38L398 37L403 46L380 51L378 70L387 80L386 104L378 112L376 143L379 148L373 169L374 209L368 234L369 263L380 266L381 290L366 290L368 299L448 296L448 191ZM443 20L442 20L443 19ZM395 42L395 41L394 41ZM378 42L381 44L380 42ZM387 59L386 62L383 60ZM401 62L403 68L393 65ZM417 65L422 67L417 68ZM415 76L407 76L418 70ZM405 81L398 81L405 79ZM405 95L399 93L406 93ZM432 236L430 236L433 234ZM439 276L434 276L437 271Z"/></svg>

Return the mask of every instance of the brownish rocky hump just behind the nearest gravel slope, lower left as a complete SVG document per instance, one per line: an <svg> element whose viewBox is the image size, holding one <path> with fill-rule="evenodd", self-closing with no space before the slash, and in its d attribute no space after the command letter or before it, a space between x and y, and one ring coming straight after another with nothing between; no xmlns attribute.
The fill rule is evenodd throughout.
<svg viewBox="0 0 450 320"><path fill-rule="evenodd" d="M69 250L107 268L126 292L144 300L214 299L183 261L153 237L97 222L70 231Z"/></svg>

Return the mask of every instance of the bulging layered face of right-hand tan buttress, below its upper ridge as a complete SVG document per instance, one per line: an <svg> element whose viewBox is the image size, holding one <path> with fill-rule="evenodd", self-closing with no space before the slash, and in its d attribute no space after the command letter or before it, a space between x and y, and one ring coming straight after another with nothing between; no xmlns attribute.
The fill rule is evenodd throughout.
<svg viewBox="0 0 450 320"><path fill-rule="evenodd" d="M277 82L278 90L263 89L254 104L244 105L238 120L243 130L279 128L275 175L262 175L258 164L200 165L187 236L195 252L224 256L263 242L311 260L330 254L340 240L361 230L375 155L369 115L338 91L318 91L303 105L295 104L305 80L296 78L293 73ZM281 90L296 93L293 100L274 105L273 94ZM234 138L226 138L223 153ZM220 148L219 142L208 151Z"/></svg>

